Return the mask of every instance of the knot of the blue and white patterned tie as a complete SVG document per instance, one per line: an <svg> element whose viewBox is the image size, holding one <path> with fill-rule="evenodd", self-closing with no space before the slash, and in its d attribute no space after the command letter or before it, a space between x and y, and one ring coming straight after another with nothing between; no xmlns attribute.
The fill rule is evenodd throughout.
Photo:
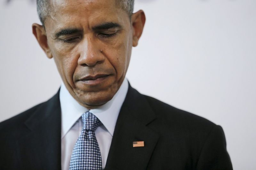
<svg viewBox="0 0 256 170"><path fill-rule="evenodd" d="M91 112L85 112L82 115L83 128L88 131L95 131L101 124L100 120Z"/></svg>

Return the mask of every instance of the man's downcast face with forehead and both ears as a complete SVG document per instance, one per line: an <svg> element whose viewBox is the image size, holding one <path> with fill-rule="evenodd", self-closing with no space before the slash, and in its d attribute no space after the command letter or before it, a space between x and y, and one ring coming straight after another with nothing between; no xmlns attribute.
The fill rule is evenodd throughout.
<svg viewBox="0 0 256 170"><path fill-rule="evenodd" d="M33 34L48 58L54 58L70 94L82 106L97 108L123 83L132 46L145 24L138 11L130 18L116 0L52 0L44 27Z"/></svg>

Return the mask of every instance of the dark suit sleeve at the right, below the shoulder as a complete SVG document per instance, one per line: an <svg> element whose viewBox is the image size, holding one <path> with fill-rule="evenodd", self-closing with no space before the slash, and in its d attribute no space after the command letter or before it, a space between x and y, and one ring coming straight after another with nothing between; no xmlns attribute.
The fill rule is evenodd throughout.
<svg viewBox="0 0 256 170"><path fill-rule="evenodd" d="M216 125L202 148L196 170L233 170L223 129Z"/></svg>

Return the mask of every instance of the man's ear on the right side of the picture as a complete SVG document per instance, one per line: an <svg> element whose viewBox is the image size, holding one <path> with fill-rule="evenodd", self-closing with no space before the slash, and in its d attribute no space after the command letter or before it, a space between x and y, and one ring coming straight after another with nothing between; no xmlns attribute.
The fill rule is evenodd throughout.
<svg viewBox="0 0 256 170"><path fill-rule="evenodd" d="M138 45L138 41L140 39L140 36L142 34L145 22L146 22L146 16L144 11L140 10L134 14L132 14L131 18L132 22L132 46L136 47Z"/></svg>

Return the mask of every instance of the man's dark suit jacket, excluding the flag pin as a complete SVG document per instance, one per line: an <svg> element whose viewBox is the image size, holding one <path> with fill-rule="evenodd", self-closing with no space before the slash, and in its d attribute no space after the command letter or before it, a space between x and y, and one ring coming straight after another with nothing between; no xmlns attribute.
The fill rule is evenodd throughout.
<svg viewBox="0 0 256 170"><path fill-rule="evenodd" d="M61 169L59 92L0 123L0 169ZM132 147L144 141L144 147ZM231 170L223 130L140 94L131 86L119 113L106 170Z"/></svg>

